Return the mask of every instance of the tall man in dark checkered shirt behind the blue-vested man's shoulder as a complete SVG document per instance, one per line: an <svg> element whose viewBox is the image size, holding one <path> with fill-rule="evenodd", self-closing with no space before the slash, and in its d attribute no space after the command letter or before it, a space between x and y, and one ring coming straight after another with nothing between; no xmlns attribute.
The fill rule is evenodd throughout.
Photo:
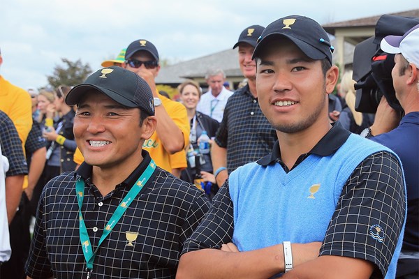
<svg viewBox="0 0 419 279"><path fill-rule="evenodd" d="M260 110L256 90L256 62L251 58L264 27L252 25L240 33L233 46L238 48L240 70L247 85L228 98L223 121L212 144L212 165L219 186L237 167L270 153L277 140L272 125Z"/></svg>

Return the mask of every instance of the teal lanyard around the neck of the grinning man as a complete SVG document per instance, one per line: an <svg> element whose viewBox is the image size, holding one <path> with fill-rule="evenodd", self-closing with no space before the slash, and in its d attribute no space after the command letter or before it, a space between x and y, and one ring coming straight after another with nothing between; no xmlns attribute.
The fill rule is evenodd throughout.
<svg viewBox="0 0 419 279"><path fill-rule="evenodd" d="M129 190L128 194L126 194L124 199L122 199L122 202L119 204L115 212L112 214L112 217L110 218L108 224L106 224L105 228L103 229L101 239L99 239L98 247L96 248L96 250L94 250L94 252L91 249L89 234L87 234L86 225L84 224L84 219L82 216L84 181L82 179L78 179L78 181L75 183L75 193L77 195L79 205L80 242L82 244L84 259L86 259L88 277L91 270L93 269L94 257L96 256L96 252L98 252L98 249L101 246L102 242L105 240L106 236L110 234L115 225L117 225L119 219L122 217L122 215L124 215L126 209L131 204L131 202L133 202L138 193L140 193L142 187L145 186L145 183L147 183L150 176L152 176L154 169L156 169L156 164L153 160L151 160L149 165L147 166L147 169L145 169L145 172L141 174L140 178L135 182L133 187L131 187L131 190Z"/></svg>

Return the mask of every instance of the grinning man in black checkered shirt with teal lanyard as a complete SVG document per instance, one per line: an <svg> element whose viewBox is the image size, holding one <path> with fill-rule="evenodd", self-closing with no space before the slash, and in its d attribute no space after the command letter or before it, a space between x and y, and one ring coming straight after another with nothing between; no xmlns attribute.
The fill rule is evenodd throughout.
<svg viewBox="0 0 419 279"><path fill-rule="evenodd" d="M71 89L66 103L78 106L74 135L84 163L45 186L27 275L174 278L208 202L142 150L157 124L149 85L111 66Z"/></svg>

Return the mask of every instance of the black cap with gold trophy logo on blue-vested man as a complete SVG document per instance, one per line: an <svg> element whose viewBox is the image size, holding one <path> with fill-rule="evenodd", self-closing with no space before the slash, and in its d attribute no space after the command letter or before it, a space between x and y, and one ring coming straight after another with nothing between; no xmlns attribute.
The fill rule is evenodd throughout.
<svg viewBox="0 0 419 279"><path fill-rule="evenodd" d="M267 38L274 35L281 35L292 40L311 59L327 58L332 64L334 48L330 45L328 33L318 22L301 15L289 15L269 24L258 39L258 45L253 52L253 59L258 56L261 46L269 41Z"/></svg>

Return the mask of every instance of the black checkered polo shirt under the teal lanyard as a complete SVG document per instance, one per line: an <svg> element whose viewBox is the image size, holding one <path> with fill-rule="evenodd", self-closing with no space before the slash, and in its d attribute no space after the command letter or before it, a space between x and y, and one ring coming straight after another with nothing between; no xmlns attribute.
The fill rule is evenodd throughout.
<svg viewBox="0 0 419 279"><path fill-rule="evenodd" d="M103 228L145 171L144 160L103 197L91 183L91 166L83 163L77 172L52 179L41 195L34 239L26 271L31 278L82 278L86 262L80 246L78 202L75 181L86 181L82 215L92 249L98 246ZM91 278L175 278L183 243L208 210L203 192L156 167L152 177L135 197L94 259ZM134 233L132 246L127 232Z"/></svg>

